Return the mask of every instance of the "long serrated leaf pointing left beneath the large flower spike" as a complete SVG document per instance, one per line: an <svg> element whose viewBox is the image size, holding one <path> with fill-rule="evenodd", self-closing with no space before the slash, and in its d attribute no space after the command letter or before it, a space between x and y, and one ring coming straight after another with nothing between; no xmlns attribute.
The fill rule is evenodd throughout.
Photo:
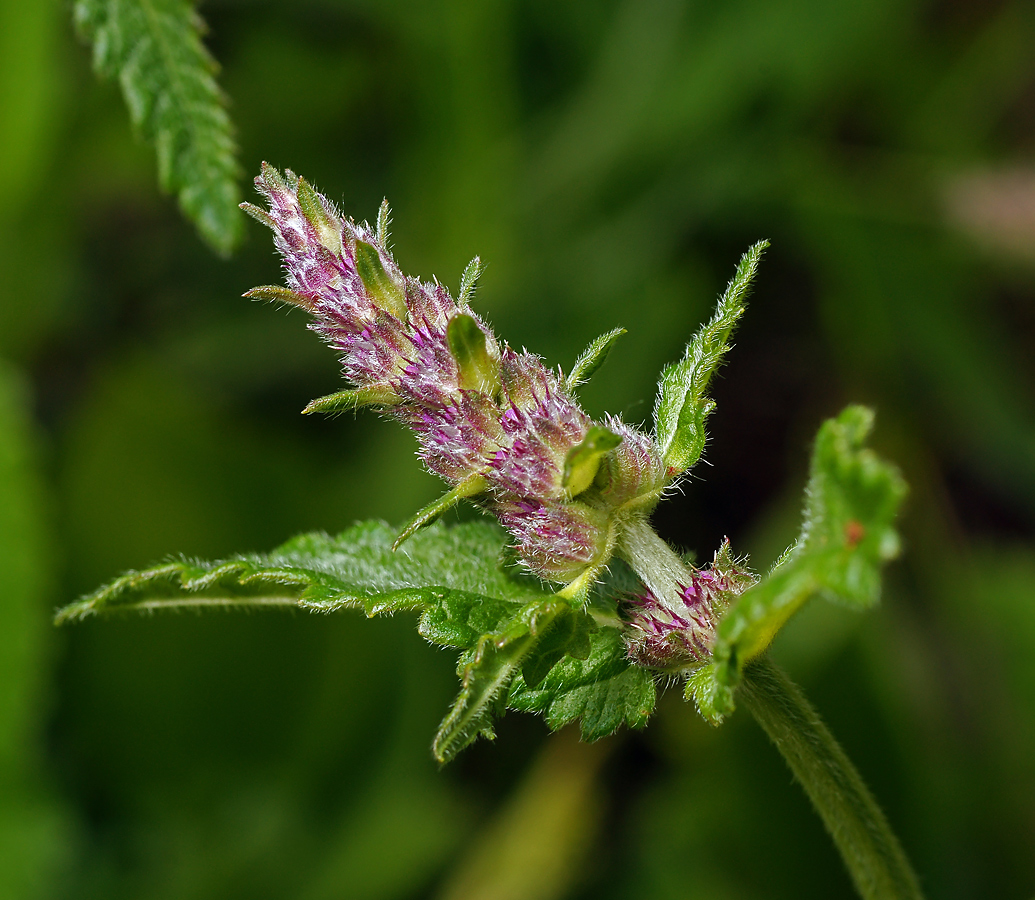
<svg viewBox="0 0 1035 900"><path fill-rule="evenodd" d="M57 621L203 606L359 608L368 616L414 609L430 640L469 648L506 616L550 596L499 568L504 537L487 522L433 526L398 552L394 539L386 524L364 522L337 537L302 535L271 553L177 560L127 572L66 606Z"/></svg>

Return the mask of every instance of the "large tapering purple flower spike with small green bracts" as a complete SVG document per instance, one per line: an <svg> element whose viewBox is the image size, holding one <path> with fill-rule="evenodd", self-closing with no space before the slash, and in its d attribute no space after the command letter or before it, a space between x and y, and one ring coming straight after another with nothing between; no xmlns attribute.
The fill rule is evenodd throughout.
<svg viewBox="0 0 1035 900"><path fill-rule="evenodd" d="M353 389L410 427L434 473L492 511L537 575L571 582L614 551L623 517L646 515L667 484L653 439L614 417L591 419L563 372L497 340L440 283L403 274L379 227L343 218L304 179L264 166L256 179L284 257L286 300L341 355Z"/></svg>

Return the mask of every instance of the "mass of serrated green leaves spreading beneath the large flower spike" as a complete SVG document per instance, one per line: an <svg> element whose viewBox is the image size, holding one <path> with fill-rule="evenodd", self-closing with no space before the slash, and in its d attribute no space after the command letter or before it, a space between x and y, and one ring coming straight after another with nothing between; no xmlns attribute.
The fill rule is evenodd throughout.
<svg viewBox="0 0 1035 900"><path fill-rule="evenodd" d="M653 683L646 672L632 674L617 630L597 630L588 613L504 571L500 529L484 521L433 526L398 552L396 544L387 526L366 522L333 538L302 535L268 554L171 562L126 573L65 607L57 621L206 607L416 611L425 639L465 651L461 693L434 743L442 762L479 736L492 737L508 704L544 713L552 728L586 717L587 739L646 721ZM515 679L522 687L510 703Z"/></svg>

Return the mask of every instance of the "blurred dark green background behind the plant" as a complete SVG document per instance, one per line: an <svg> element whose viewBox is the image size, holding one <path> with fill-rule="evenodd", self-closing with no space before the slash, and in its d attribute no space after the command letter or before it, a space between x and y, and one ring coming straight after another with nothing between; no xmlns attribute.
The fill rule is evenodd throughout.
<svg viewBox="0 0 1035 900"><path fill-rule="evenodd" d="M591 413L649 420L772 240L708 464L656 523L764 569L819 423L875 406L905 556L879 611L809 607L774 653L930 897L1035 895L1035 4L202 11L247 173L358 218L388 197L404 269L455 287L479 253L479 308L553 363L629 329ZM302 314L240 297L279 279L268 233L200 242L58 0L0 0L0 896L852 896L760 729L678 691L593 747L511 714L440 772L453 660L405 617L54 630L125 568L400 522L440 486L396 426L298 415L341 382Z"/></svg>

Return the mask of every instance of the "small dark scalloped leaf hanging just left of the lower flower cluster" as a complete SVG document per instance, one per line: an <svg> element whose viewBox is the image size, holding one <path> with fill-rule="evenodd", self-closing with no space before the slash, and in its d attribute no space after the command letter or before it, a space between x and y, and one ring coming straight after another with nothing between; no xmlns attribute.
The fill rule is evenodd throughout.
<svg viewBox="0 0 1035 900"><path fill-rule="evenodd" d="M655 702L653 677L629 662L621 634L608 626L590 636L585 660L565 657L537 688L516 678L507 706L541 713L554 730L581 719L583 739L596 741L623 724L642 727Z"/></svg>

